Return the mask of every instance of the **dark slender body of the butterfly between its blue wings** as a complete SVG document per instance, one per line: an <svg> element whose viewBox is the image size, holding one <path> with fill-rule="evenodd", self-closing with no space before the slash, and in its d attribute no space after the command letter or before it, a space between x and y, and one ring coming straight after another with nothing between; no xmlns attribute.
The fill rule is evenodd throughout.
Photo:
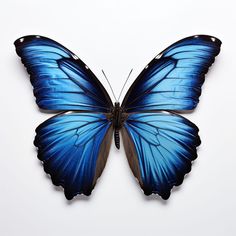
<svg viewBox="0 0 236 236"><path fill-rule="evenodd" d="M125 120L125 116L123 113L123 109L120 106L119 102L115 102L114 109L112 111L112 124L114 128L114 140L115 145L118 149L120 149L120 134L119 130L122 128Z"/></svg>

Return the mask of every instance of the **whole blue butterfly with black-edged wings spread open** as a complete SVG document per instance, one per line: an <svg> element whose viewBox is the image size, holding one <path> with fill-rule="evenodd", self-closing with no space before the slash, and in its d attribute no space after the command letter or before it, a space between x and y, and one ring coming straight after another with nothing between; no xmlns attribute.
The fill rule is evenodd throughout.
<svg viewBox="0 0 236 236"><path fill-rule="evenodd" d="M60 112L36 128L34 145L53 184L71 200L90 195L105 167L112 136L122 135L130 168L144 194L168 199L197 158L199 129L178 113L193 110L205 74L220 52L216 37L184 38L159 53L123 102L111 98L74 53L43 36L15 41L39 108Z"/></svg>

